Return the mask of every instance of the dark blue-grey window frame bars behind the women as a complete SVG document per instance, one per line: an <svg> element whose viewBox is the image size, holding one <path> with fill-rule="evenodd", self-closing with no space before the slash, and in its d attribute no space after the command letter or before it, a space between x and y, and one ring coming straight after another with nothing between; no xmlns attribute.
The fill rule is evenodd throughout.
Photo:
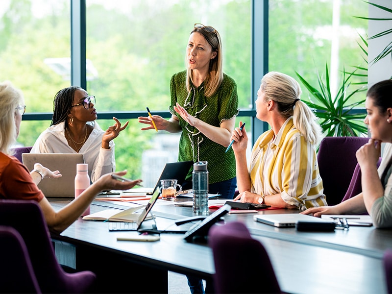
<svg viewBox="0 0 392 294"><path fill-rule="evenodd" d="M251 108L240 109L238 116L250 117L252 145L268 129L268 123L256 118L255 98L261 77L268 72L268 9L269 1L251 1ZM256 17L257 16L257 17ZM71 0L71 84L87 88L86 75L86 0ZM262 38L260 38L262 36ZM257 66L256 66L257 65ZM170 118L169 111L154 114ZM51 121L51 112L25 113L23 121ZM99 112L98 120L130 120L145 116L142 111Z"/></svg>

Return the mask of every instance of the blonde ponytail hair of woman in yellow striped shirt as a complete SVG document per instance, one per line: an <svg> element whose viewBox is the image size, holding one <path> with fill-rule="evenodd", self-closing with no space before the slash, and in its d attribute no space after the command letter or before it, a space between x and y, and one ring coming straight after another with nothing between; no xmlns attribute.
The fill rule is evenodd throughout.
<svg viewBox="0 0 392 294"><path fill-rule="evenodd" d="M312 110L300 100L302 93L298 82L291 76L270 72L261 79L265 99L277 102L279 113L288 119L293 116L294 127L307 142L317 145L321 139L321 127Z"/></svg>

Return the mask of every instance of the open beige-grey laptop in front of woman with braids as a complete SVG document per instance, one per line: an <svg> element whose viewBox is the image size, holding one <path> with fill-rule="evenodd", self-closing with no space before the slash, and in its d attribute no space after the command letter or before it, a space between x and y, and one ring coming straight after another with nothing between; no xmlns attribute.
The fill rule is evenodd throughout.
<svg viewBox="0 0 392 294"><path fill-rule="evenodd" d="M40 163L51 171L60 171L62 177L43 178L38 188L46 197L74 197L76 164L84 163L83 154L79 153L22 153L22 162L29 171L35 163Z"/></svg>

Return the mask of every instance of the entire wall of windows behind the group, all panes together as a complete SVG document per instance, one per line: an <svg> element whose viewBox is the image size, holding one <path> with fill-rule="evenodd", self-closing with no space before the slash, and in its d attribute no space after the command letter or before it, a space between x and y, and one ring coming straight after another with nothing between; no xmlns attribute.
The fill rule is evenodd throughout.
<svg viewBox="0 0 392 294"><path fill-rule="evenodd" d="M54 95L72 83L71 47L79 45L71 38L71 1L86 4L86 90L97 97L98 123L113 124L112 113L122 122L133 118L115 140L117 170L148 186L157 177L152 170L176 160L179 135L143 132L134 118L147 115L147 106L170 116L170 78L185 69L194 23L220 32L223 69L238 86L237 124L245 121L253 137L263 130L251 117L263 71L298 72L317 86L326 63L333 82L343 65L346 71L364 65L357 41L367 22L354 16L367 16L368 4L358 0L269 0L268 13L261 11L267 0L2 0L0 80L25 93L30 114L18 140L25 146L49 126Z"/></svg>

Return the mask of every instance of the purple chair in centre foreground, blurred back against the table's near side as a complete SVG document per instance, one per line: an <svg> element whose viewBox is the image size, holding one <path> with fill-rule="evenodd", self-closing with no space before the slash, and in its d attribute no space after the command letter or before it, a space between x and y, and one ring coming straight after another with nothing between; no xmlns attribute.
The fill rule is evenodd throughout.
<svg viewBox="0 0 392 294"><path fill-rule="evenodd" d="M216 293L282 293L264 246L238 221L208 232L215 263Z"/></svg>

